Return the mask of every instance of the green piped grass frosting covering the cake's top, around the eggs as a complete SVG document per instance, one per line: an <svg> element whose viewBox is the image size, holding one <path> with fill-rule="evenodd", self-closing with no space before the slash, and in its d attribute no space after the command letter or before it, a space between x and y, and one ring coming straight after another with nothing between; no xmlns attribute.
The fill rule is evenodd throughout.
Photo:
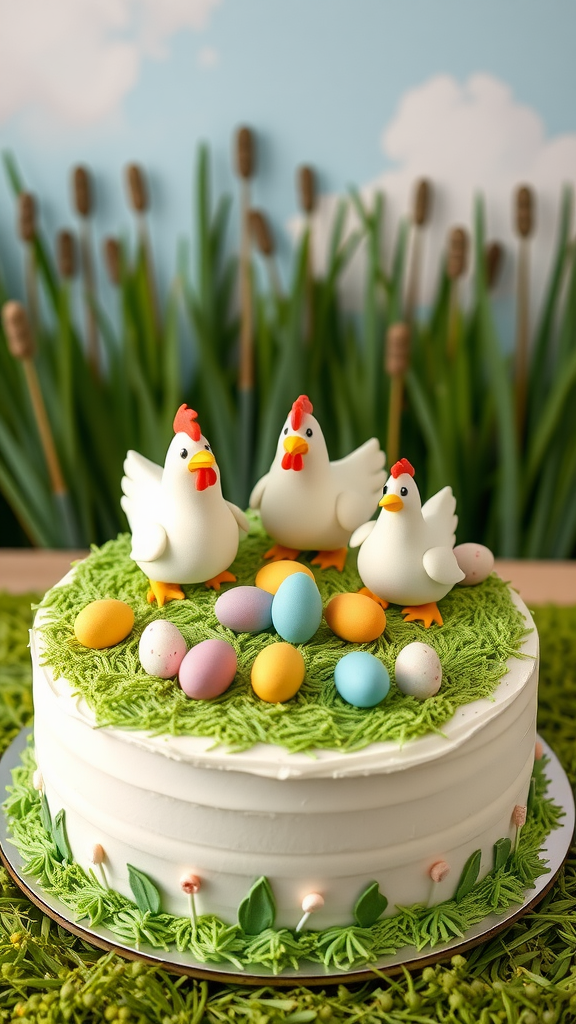
<svg viewBox="0 0 576 1024"><path fill-rule="evenodd" d="M232 566L238 585L253 586L262 556L271 545L259 517L251 514L249 537L242 542ZM314 566L313 566L314 569ZM360 589L356 556L348 554L344 570L315 570L324 606L335 594ZM227 585L227 589L230 585ZM43 662L68 679L93 710L100 726L145 729L170 735L205 736L231 751L254 743L278 743L291 753L328 748L358 751L370 743L404 743L428 732L441 732L457 708L490 697L505 673L505 662L518 654L526 623L513 605L508 588L491 575L478 587L452 590L440 608L444 626L428 630L405 623L401 609L386 611L386 629L373 643L351 644L336 637L323 620L314 637L299 645L305 679L291 700L272 705L260 700L250 685L256 655L281 639L269 630L261 634L234 634L215 614L217 594L204 585L183 587L186 600L163 608L147 602L148 581L130 558L130 537L120 536L81 562L74 579L51 590L42 602ZM74 635L74 621L90 601L119 598L133 609L135 624L129 637L116 647L91 650ZM209 637L234 645L238 672L229 690L213 700L193 700L177 680L149 676L139 665L140 636L155 618L174 623L189 646ZM415 641L433 646L443 668L440 692L417 700L394 685L394 666L400 650ZM354 708L337 693L334 669L351 650L367 650L381 658L393 685L381 705Z"/></svg>

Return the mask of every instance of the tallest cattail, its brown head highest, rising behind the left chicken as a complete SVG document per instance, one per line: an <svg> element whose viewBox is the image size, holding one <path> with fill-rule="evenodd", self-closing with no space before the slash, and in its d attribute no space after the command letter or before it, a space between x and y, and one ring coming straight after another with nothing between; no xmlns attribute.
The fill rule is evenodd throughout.
<svg viewBox="0 0 576 1024"><path fill-rule="evenodd" d="M254 325L250 272L250 181L256 166L256 145L250 128L238 129L236 169L240 177L240 368L238 378L240 415L240 492L247 504L253 461L254 429Z"/></svg>

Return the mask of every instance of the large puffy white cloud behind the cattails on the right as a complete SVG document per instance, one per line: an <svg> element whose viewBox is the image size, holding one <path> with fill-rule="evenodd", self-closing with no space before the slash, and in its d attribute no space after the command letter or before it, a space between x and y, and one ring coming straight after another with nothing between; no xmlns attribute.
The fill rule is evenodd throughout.
<svg viewBox="0 0 576 1024"><path fill-rule="evenodd" d="M475 75L464 84L438 76L405 93L393 121L382 133L387 163L396 164L360 190L371 206L377 190L385 197L384 250L390 245L401 217L411 209L414 183L428 178L434 186L433 216L425 236L425 265L421 299L430 300L438 280L439 260L451 227L471 228L474 197L485 197L488 239L504 245L505 273L501 294L513 289L513 194L530 184L536 195L536 230L532 246L533 298L541 297L549 269L558 223L562 185L574 181L576 134L547 138L538 113L519 103L509 87L489 76ZM337 197L325 196L315 214L316 257L322 269ZM356 218L348 217L348 226ZM299 229L297 221L293 229ZM363 256L354 261L345 279L348 301L362 295Z"/></svg>

